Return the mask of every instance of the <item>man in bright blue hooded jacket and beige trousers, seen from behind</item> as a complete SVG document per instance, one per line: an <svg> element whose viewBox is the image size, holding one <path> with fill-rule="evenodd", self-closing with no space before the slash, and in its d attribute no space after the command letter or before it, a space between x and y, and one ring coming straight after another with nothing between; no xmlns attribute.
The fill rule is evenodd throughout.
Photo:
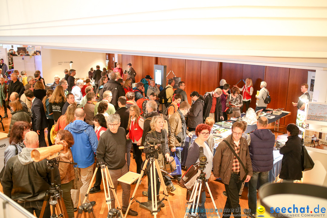
<svg viewBox="0 0 327 218"><path fill-rule="evenodd" d="M79 190L73 190L72 200L74 202L74 210L78 205L78 195L80 194L80 202L84 201L85 194L89 188L92 174L94 153L98 146L98 139L95 131L91 125L84 122L85 112L81 108L75 110L75 121L68 124L65 129L72 133L75 143L71 150L73 154L74 162L77 163L77 170L80 170L81 181L83 186ZM86 198L86 203L95 205L95 201L89 201L89 197Z"/></svg>

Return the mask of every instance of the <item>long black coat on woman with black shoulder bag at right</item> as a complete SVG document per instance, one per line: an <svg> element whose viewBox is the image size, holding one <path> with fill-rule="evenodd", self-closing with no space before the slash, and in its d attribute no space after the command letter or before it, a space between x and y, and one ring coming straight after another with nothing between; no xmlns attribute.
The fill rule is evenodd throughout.
<svg viewBox="0 0 327 218"><path fill-rule="evenodd" d="M287 142L279 153L283 156L281 179L301 180L302 178L302 142L298 136L288 136Z"/></svg>

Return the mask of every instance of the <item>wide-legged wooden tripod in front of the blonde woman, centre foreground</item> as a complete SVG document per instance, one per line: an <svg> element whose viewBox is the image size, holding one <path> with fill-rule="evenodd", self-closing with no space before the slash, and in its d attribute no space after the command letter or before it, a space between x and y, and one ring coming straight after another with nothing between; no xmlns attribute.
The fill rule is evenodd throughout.
<svg viewBox="0 0 327 218"><path fill-rule="evenodd" d="M140 149L142 149L141 146L140 146ZM173 218L175 218L174 213L173 213L173 210L172 210L171 205L170 205L169 198L168 198L168 192L166 190L166 187L164 186L163 176L162 176L162 173L161 173L161 169L160 169L158 160L156 158L156 152L157 152L157 150L155 149L154 145L151 145L151 146L148 146L148 151L150 153L146 157L146 160L144 162L144 165L143 165L143 168L142 168L140 177L139 177L139 179L138 179L138 181L136 183L136 187L134 189L134 192L132 194L132 197L130 198L130 202L129 202L129 205L128 205L128 208L127 208L127 211L126 211L126 214L125 214L125 217L124 218L127 217L127 213L129 211L130 205L132 204L132 201L133 201L133 199L135 197L135 194L136 194L137 189L139 187L139 184L140 184L140 181L142 179L143 173L145 171L147 172L147 170L148 170L148 169L146 170L147 163L148 162L150 163L149 164L149 168L150 168L150 182L151 182L150 184L151 184L151 196L152 196L151 197L151 205L148 204L150 202L141 203L141 202L139 202L136 199L135 199L135 201L140 204L140 207L141 208L144 208L146 210L149 210L151 212L151 215L154 215L154 218L157 218L157 214L161 210L160 204L161 204L161 202L163 200L166 200L166 201L168 201L168 205L169 205L169 208L170 208L171 215L172 215ZM158 201L157 200L157 197L156 197L156 195L157 195L157 186L156 186L156 184L154 184L154 182L157 181L157 179L156 179L156 172L158 173L158 176L159 176L159 178L161 180L161 187L163 188L163 193L164 193L164 197L163 197L163 199L161 201ZM150 193L148 193L148 195L149 194Z"/></svg>

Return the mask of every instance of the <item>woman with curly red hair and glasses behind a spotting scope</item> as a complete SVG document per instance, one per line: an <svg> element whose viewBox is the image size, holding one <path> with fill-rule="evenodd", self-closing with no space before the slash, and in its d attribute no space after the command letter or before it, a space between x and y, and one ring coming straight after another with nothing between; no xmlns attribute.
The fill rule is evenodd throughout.
<svg viewBox="0 0 327 218"><path fill-rule="evenodd" d="M189 168L191 165L199 162L199 151L200 147L203 147L203 154L207 157L208 164L205 166L204 173L206 174L206 179L209 179L211 176L211 170L212 170L212 160L214 158L211 149L209 148L208 143L206 142L208 140L208 137L210 135L211 126L207 124L199 124L195 129L195 134L198 136L194 140L194 142L191 144L191 146L188 149L188 155L186 159L185 166ZM200 172L200 171L199 171ZM199 175L199 172L197 176ZM193 182L194 183L194 182ZM187 184L185 183L186 188L191 188L194 184ZM188 187L190 186L190 187ZM198 215L199 217L206 217L204 202L205 202L206 196L205 196L205 185L203 186L202 193L201 193L201 205L198 206Z"/></svg>

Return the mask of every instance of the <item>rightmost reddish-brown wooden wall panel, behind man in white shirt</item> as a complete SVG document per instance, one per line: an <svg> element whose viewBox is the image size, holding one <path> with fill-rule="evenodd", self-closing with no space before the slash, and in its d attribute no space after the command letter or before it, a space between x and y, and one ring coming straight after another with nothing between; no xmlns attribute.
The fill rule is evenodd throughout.
<svg viewBox="0 0 327 218"><path fill-rule="evenodd" d="M291 111L291 115L285 117L284 125L290 123L295 123L296 115L298 112L297 107L292 105L292 102L297 103L302 92L300 91L301 84L308 82L308 71L314 70L304 70L304 69L294 69L291 68L289 71L288 89L287 89L287 101L286 101L286 111Z"/></svg>

